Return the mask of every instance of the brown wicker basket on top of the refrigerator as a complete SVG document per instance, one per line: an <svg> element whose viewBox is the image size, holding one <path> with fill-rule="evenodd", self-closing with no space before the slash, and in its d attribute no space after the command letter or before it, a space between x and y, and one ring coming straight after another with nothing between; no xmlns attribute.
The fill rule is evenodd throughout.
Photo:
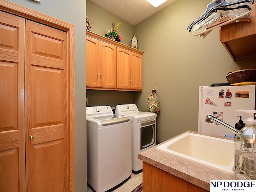
<svg viewBox="0 0 256 192"><path fill-rule="evenodd" d="M256 69L251 69L252 66L248 69L229 72L226 75L228 83L256 82Z"/></svg>

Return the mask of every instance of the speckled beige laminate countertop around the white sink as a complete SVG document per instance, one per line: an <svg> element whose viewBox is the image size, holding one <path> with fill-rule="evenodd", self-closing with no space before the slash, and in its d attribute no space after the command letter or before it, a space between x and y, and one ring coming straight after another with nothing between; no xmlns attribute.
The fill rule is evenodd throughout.
<svg viewBox="0 0 256 192"><path fill-rule="evenodd" d="M186 132L232 140L231 138L203 134L194 131ZM168 142L169 140L165 142ZM156 146L141 152L139 154L139 159L208 191L210 191L210 180L236 180L232 173L215 170L202 164L198 164L192 160L175 156L157 149Z"/></svg>

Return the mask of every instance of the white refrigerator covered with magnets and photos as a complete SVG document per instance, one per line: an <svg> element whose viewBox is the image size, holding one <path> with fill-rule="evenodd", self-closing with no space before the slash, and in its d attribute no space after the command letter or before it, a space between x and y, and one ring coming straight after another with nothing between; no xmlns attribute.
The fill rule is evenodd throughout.
<svg viewBox="0 0 256 192"><path fill-rule="evenodd" d="M234 133L217 123L207 123L208 114L235 127L249 117L237 109L255 110L255 85L199 87L198 132L234 137Z"/></svg>

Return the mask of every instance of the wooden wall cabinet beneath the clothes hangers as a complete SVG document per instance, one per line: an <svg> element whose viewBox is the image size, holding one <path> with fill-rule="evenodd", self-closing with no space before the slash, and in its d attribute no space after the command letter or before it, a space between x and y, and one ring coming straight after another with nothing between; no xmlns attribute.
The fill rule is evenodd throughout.
<svg viewBox="0 0 256 192"><path fill-rule="evenodd" d="M256 57L256 4L250 22L231 23L220 28L220 41L233 60Z"/></svg>

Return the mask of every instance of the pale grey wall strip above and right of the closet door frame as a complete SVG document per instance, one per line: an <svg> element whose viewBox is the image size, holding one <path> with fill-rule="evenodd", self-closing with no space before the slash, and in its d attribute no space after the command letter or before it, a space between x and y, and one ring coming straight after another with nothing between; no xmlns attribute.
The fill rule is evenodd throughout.
<svg viewBox="0 0 256 192"><path fill-rule="evenodd" d="M75 26L75 125L76 192L86 187L86 2L84 0L9 0L32 10L53 16Z"/></svg>

